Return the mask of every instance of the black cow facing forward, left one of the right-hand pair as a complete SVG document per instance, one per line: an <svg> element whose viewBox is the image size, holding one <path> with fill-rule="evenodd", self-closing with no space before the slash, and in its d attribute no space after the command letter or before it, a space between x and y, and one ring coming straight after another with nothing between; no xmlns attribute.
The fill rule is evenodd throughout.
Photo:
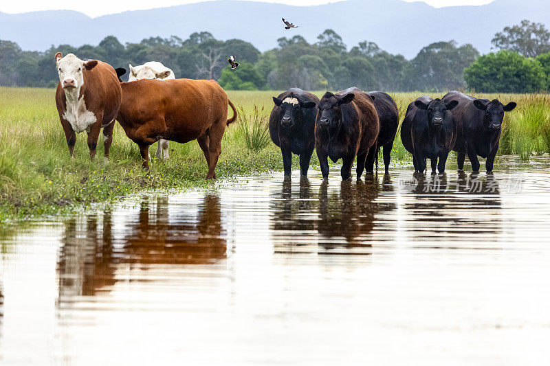
<svg viewBox="0 0 550 366"><path fill-rule="evenodd" d="M426 170L426 159L432 162L432 172L436 167L440 173L445 171L456 142L456 121L450 110L457 104L456 100L445 103L439 98L420 97L408 105L401 124L401 142L412 154L416 172Z"/></svg>

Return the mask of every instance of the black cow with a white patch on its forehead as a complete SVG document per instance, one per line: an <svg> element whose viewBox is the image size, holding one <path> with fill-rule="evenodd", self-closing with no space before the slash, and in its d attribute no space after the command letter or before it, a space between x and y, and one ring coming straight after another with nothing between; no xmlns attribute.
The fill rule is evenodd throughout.
<svg viewBox="0 0 550 366"><path fill-rule="evenodd" d="M275 106L270 115L270 136L283 153L285 175L291 174L292 154L300 156L300 174L307 176L311 154L315 148L315 117L319 98L292 88L273 97Z"/></svg>

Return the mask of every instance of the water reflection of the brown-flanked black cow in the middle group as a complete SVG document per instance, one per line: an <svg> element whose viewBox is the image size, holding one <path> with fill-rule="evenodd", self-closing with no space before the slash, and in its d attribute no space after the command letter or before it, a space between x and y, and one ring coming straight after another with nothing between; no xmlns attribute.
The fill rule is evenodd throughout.
<svg viewBox="0 0 550 366"><path fill-rule="evenodd" d="M319 190L319 244L325 249L367 247L363 244L374 228L375 215L380 211L375 201L379 194L376 180L343 181L340 194L329 193L327 182ZM369 251L370 253L370 251Z"/></svg>

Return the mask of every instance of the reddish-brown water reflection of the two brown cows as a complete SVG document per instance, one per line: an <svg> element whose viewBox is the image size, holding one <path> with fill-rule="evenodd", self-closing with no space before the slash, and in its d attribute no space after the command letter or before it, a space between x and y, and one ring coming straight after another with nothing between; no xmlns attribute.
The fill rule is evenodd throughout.
<svg viewBox="0 0 550 366"><path fill-rule="evenodd" d="M120 271L147 270L166 264L213 264L226 256L221 205L215 194L197 202L198 212L180 212L168 198L155 204L142 198L137 217L114 224L109 211L85 223L69 220L58 261L61 295L94 295L110 290ZM127 272L124 279L128 280Z"/></svg>

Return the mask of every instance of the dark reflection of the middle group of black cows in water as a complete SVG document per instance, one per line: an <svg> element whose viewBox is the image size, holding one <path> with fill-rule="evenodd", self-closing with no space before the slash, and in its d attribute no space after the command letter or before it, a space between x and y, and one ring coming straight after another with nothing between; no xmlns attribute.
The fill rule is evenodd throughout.
<svg viewBox="0 0 550 366"><path fill-rule="evenodd" d="M380 192L377 176L365 182L342 181L340 190L331 188L324 181L316 194L307 179L300 179L294 187L290 179L283 181L271 204L276 253L371 253L366 242L371 239L375 215L394 209L395 204L376 201ZM386 174L382 191L392 190Z"/></svg>

